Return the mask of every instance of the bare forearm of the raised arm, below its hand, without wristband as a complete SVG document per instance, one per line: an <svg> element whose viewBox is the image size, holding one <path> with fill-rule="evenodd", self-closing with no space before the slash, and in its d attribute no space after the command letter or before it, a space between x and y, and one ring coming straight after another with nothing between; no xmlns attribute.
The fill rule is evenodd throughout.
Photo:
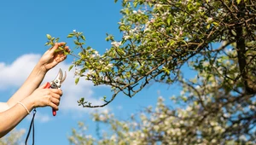
<svg viewBox="0 0 256 145"><path fill-rule="evenodd" d="M15 92L13 96L10 97L7 104L9 107L13 107L17 102L20 102L26 96L32 94L34 90L42 83L47 71L42 68L39 64L33 68L32 73L26 78L24 84L21 85L20 89Z"/></svg>

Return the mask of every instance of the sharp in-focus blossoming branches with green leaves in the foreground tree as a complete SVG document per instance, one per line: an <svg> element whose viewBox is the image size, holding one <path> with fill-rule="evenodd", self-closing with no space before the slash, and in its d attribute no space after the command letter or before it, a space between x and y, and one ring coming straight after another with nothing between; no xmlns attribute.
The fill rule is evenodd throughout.
<svg viewBox="0 0 256 145"><path fill-rule="evenodd" d="M237 52L234 57L240 73L233 80L225 74L224 78L242 79L246 93L255 94L253 1L123 0L122 5L119 30L123 37L117 41L108 34L106 40L112 47L103 55L84 46L83 32L73 31L67 36L75 38L74 49L79 49L78 54L69 54L76 58L70 67L76 69L75 83L85 78L113 90L111 99L102 105L92 106L84 99L79 105L106 106L120 92L135 96L150 81L172 84L182 77L184 64L200 59L213 64L227 47ZM47 37L47 44L58 41ZM212 47L218 43L223 45Z"/></svg>

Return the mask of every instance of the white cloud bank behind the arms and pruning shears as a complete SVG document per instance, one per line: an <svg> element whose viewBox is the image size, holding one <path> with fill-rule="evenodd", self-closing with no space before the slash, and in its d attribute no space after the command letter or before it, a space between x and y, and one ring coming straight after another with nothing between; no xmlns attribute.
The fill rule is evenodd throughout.
<svg viewBox="0 0 256 145"><path fill-rule="evenodd" d="M0 82L4 82L0 84L0 91L12 90L13 88L18 89L32 72L33 67L37 64L40 57L41 55L27 54L21 55L11 64L0 62ZM62 71L66 71L67 78L61 86L63 96L61 97L60 111L58 113L69 113L70 111L73 113L74 111L75 113L88 113L92 109L86 109L78 106L77 101L81 97L85 97L87 99L86 101L90 101L93 104L102 104L102 101L92 97L94 93L92 90L93 84L91 84L89 81L80 80L79 84L74 84L74 69L71 72L68 72L69 66L70 64L65 63L65 61L61 62L58 66L49 70L42 84L53 80L60 68ZM104 109L106 108L107 107L104 107ZM40 119L42 119L41 121L45 122L49 120L49 117L41 114Z"/></svg>

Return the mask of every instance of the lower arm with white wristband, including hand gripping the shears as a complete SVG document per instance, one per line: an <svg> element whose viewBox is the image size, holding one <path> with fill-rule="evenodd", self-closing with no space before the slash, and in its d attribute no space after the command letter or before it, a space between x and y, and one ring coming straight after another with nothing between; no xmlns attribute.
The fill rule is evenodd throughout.
<svg viewBox="0 0 256 145"><path fill-rule="evenodd" d="M26 117L28 114L26 108L29 112L34 107L46 106L58 110L62 91L58 89L44 89L44 86L45 84L20 101L25 107L16 102L13 107L0 112L0 138L15 128ZM3 107L5 107L4 103L0 103L0 110L4 110Z"/></svg>

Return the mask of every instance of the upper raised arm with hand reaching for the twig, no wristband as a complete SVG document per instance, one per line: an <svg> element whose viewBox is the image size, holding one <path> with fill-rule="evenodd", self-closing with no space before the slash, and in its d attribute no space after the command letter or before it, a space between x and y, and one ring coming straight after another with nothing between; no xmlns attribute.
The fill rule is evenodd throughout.
<svg viewBox="0 0 256 145"><path fill-rule="evenodd" d="M6 102L8 108L15 106L17 102L20 102L22 99L26 98L26 96L30 96L33 90L36 90L39 84L42 83L49 69L55 67L58 63L67 58L67 55L64 55L63 51L56 52L59 47L64 47L64 49L69 51L65 43L55 43L52 48L48 49L38 61L38 64L33 68L32 73L26 78L24 84L22 84L20 89Z"/></svg>

